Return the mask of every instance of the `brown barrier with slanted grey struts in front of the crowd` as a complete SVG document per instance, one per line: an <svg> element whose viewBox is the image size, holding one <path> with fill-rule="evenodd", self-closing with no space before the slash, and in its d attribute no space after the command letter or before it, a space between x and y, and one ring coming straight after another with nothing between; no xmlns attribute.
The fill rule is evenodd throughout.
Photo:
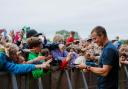
<svg viewBox="0 0 128 89"><path fill-rule="evenodd" d="M121 68L119 89L127 87L128 71ZM34 79L29 74L14 75L0 72L0 89L96 89L96 75L78 69L52 72L43 78Z"/></svg>

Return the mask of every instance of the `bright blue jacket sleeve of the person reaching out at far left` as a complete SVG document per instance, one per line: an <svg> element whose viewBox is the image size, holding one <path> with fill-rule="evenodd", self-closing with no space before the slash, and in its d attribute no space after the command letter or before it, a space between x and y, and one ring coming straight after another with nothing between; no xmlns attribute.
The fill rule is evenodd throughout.
<svg viewBox="0 0 128 89"><path fill-rule="evenodd" d="M0 52L0 71L9 71L14 74L24 74L35 69L34 64L15 64L5 53Z"/></svg>

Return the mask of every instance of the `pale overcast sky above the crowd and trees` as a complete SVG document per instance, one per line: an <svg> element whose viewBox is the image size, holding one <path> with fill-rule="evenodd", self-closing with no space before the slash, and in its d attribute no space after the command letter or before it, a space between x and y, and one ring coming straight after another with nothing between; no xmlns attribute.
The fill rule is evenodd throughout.
<svg viewBox="0 0 128 89"><path fill-rule="evenodd" d="M47 37L77 31L82 38L104 26L110 39L128 38L128 0L0 0L0 28L30 26Z"/></svg>

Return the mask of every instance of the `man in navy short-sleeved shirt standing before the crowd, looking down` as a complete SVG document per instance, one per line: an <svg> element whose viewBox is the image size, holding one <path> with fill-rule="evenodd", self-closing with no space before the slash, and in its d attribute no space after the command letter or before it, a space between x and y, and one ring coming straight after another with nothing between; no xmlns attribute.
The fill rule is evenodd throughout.
<svg viewBox="0 0 128 89"><path fill-rule="evenodd" d="M92 39L102 47L98 67L83 64L79 68L87 69L98 75L98 89L118 89L119 54L116 47L108 40L105 28L95 27L91 32Z"/></svg>

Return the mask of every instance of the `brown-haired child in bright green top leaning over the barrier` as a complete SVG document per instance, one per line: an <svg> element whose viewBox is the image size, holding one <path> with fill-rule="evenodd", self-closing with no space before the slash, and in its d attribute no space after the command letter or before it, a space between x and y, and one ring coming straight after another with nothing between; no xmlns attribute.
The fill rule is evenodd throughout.
<svg viewBox="0 0 128 89"><path fill-rule="evenodd" d="M50 55L46 57L45 54L42 53L43 45L42 45L42 40L40 38L30 37L27 39L27 43L28 43L29 49L31 50L27 58L28 61L37 59L37 60L40 60L38 63L43 63L45 62L45 60L48 60L51 58ZM47 73L45 73L45 71L42 69L37 69L32 71L32 74L34 78L39 78L41 76L46 75Z"/></svg>

